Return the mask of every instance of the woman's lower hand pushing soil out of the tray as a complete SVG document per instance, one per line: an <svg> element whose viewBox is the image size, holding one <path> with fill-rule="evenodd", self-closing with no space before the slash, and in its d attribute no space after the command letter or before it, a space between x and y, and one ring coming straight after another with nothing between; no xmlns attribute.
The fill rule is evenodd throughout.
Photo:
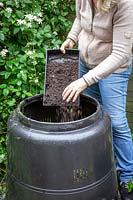
<svg viewBox="0 0 133 200"><path fill-rule="evenodd" d="M83 78L79 78L76 81L70 83L63 91L62 97L66 102L75 102L79 94L87 87L87 83Z"/></svg>

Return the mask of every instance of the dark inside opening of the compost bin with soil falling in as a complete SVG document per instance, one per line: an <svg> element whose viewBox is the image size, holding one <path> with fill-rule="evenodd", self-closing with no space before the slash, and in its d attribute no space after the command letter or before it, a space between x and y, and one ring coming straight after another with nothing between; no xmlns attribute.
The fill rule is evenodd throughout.
<svg viewBox="0 0 133 200"><path fill-rule="evenodd" d="M29 119L41 122L72 122L86 118L96 112L97 104L89 97L80 95L79 107L43 106L43 96L36 97L36 101L29 98L21 106L21 112Z"/></svg>

